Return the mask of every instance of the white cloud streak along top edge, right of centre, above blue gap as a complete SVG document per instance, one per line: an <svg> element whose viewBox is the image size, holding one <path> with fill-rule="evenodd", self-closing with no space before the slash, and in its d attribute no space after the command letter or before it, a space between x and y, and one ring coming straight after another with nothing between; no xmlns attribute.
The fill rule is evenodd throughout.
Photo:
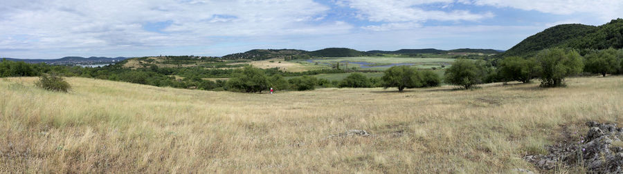
<svg viewBox="0 0 623 174"><path fill-rule="evenodd" d="M444 12L440 10L423 10L418 7L431 3L447 5L454 3L454 0L343 0L338 2L343 4L343 6L349 6L358 10L357 14L360 19L375 22L478 21L494 17L494 14L491 12L483 14L474 14L467 10Z"/></svg>

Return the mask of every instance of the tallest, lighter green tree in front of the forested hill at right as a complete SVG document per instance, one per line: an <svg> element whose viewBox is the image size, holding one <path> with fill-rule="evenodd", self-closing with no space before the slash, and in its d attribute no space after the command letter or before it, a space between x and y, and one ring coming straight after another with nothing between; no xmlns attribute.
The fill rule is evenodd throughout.
<svg viewBox="0 0 623 174"><path fill-rule="evenodd" d="M563 81L569 75L582 71L582 57L575 51L561 48L542 50L536 55L536 64L540 68L541 87L564 86Z"/></svg>

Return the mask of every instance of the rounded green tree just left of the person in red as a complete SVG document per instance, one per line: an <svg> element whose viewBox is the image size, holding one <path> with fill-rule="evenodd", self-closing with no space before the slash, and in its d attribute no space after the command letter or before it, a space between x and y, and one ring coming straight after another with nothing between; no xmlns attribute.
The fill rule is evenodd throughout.
<svg viewBox="0 0 623 174"><path fill-rule="evenodd" d="M246 66L235 72L226 83L230 89L244 91L246 93L258 93L268 88L269 81L264 75L264 70Z"/></svg>

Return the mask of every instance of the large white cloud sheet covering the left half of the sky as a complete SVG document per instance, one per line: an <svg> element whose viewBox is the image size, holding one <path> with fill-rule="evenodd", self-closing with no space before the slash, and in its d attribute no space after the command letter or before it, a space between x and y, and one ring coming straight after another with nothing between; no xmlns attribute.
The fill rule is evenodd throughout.
<svg viewBox="0 0 623 174"><path fill-rule="evenodd" d="M201 46L211 37L344 33L323 22L329 8L312 0L8 0L0 6L0 50L123 50ZM162 32L149 23L169 21ZM19 38L15 36L21 36Z"/></svg>

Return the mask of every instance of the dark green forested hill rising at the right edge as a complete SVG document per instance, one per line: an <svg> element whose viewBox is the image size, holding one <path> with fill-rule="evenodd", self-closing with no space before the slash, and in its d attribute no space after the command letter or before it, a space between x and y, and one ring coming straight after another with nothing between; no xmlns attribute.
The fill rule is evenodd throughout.
<svg viewBox="0 0 623 174"><path fill-rule="evenodd" d="M602 50L623 47L623 19L602 26L563 24L527 37L502 56L532 56L539 50L561 47Z"/></svg>

